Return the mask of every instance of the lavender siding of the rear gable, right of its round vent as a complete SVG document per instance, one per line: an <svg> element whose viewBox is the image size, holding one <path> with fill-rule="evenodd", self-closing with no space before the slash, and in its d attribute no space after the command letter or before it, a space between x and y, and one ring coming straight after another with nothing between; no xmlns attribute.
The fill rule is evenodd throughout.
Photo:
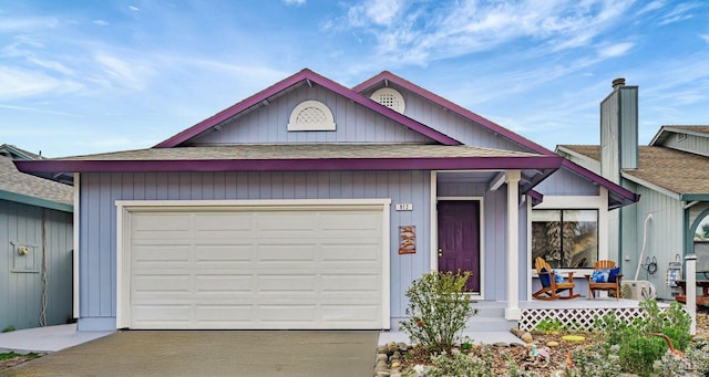
<svg viewBox="0 0 709 377"><path fill-rule="evenodd" d="M401 88L395 84L391 84L390 87L397 90L403 96L407 104L403 113L405 116L422 124L431 125L441 133L465 145L494 149L530 151L527 148L513 143L507 138L500 137L500 135L496 135L490 129L445 109L441 105L438 105L418 94ZM364 92L363 94L369 96L371 93L372 92L370 91Z"/></svg>

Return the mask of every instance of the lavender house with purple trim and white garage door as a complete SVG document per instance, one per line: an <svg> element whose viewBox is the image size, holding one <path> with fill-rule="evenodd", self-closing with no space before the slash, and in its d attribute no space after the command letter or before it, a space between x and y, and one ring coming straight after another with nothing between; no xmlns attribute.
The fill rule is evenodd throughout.
<svg viewBox="0 0 709 377"><path fill-rule="evenodd" d="M533 217L576 217L588 269L637 200L389 72L302 70L152 148L17 166L75 172L80 329L390 328L412 280L459 269L514 321Z"/></svg>

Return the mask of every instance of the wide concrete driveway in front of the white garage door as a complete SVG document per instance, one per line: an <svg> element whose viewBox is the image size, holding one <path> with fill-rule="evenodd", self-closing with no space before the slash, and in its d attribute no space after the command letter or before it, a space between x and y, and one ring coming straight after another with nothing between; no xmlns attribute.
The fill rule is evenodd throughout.
<svg viewBox="0 0 709 377"><path fill-rule="evenodd" d="M129 331L0 376L371 376L378 331Z"/></svg>

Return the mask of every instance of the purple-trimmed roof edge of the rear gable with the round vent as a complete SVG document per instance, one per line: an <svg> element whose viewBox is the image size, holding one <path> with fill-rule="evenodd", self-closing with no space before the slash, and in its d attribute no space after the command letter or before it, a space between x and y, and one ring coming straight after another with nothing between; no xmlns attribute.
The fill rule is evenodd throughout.
<svg viewBox="0 0 709 377"><path fill-rule="evenodd" d="M462 106L459 106L456 104L454 104L453 102L445 100L443 97L441 97L440 95L432 93L430 91L427 91L425 88L408 81L404 80L389 71L383 71L380 74L364 81L363 83L352 87L352 91L357 92L357 93L362 93L369 88L372 87L377 87L379 85L387 85L387 82L392 82L403 88L405 88L407 91L410 91L414 94L418 94L464 118L471 119L477 124L480 124L481 126L490 129L491 132L499 134L514 143L517 143L518 145L530 149L531 151L535 151L542 155L554 155L554 153L549 149L546 149L545 147L518 135L513 133L512 130L490 121L486 119Z"/></svg>

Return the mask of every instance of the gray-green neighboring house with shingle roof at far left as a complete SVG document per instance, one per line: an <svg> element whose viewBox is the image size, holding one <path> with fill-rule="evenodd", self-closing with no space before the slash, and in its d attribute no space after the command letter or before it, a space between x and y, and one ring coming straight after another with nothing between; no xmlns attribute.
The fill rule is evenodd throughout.
<svg viewBox="0 0 709 377"><path fill-rule="evenodd" d="M0 145L0 331L72 320L73 188L18 171Z"/></svg>

